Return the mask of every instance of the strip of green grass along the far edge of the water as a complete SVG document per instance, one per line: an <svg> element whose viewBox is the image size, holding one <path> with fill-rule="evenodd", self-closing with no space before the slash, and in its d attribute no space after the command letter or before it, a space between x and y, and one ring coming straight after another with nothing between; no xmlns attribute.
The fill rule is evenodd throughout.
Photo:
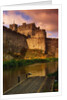
<svg viewBox="0 0 67 100"><path fill-rule="evenodd" d="M10 61L3 61L3 69L11 69L15 67L27 66L34 63L47 63L47 62L54 62L58 61L58 58L47 58L47 59L31 59L31 60L15 60L12 59Z"/></svg>

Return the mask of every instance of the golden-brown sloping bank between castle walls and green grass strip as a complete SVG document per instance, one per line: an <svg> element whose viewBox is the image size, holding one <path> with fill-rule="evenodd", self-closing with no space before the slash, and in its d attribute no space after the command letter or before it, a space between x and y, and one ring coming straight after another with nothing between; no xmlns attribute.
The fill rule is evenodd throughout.
<svg viewBox="0 0 67 100"><path fill-rule="evenodd" d="M3 54L3 60L4 61L8 61L8 60L12 60L12 59L47 59L47 58L57 58L58 56L55 55L52 52L46 52L43 53L42 50L33 50L33 49L27 49L27 50L22 50L21 53L16 53L16 52L8 52Z"/></svg>

